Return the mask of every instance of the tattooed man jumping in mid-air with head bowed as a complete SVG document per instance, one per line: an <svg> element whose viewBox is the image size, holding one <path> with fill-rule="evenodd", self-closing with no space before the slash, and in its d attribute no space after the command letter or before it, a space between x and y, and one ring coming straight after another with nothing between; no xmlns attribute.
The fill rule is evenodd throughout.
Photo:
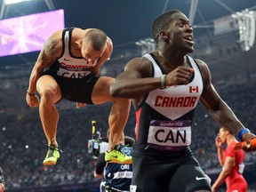
<svg viewBox="0 0 256 192"><path fill-rule="evenodd" d="M132 163L131 156L123 156L114 149L124 132L130 100L111 97L109 87L114 78L99 76L100 68L112 51L111 39L97 28L66 28L53 33L45 42L31 72L26 96L30 107L39 107L49 147L45 165L56 164L60 157L56 140L59 114L55 103L62 98L77 102L76 107L112 101L106 161Z"/></svg>

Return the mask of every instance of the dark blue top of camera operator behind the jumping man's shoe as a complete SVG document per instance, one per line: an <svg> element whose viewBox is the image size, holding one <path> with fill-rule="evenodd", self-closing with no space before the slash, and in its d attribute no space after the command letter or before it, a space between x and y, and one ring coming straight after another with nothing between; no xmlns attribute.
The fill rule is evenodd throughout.
<svg viewBox="0 0 256 192"><path fill-rule="evenodd" d="M132 156L132 148L121 145L121 152L126 156ZM132 164L108 163L104 170L105 185L110 184L116 191L130 191L132 182Z"/></svg>

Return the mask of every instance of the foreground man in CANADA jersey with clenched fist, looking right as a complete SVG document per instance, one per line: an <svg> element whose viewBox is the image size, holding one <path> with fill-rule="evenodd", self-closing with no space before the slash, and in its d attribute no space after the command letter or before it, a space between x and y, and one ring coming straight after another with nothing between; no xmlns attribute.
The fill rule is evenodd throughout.
<svg viewBox="0 0 256 192"><path fill-rule="evenodd" d="M188 56L194 41L186 15L164 12L154 20L152 33L158 50L130 60L110 86L111 95L131 98L136 110L131 191L211 191L209 177L189 148L198 100L241 140L249 142L255 135L221 100L206 64Z"/></svg>

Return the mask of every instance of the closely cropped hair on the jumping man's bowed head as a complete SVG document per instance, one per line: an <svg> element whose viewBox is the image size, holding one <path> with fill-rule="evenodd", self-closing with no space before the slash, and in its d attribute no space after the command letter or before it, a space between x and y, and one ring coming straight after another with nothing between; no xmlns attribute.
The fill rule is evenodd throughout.
<svg viewBox="0 0 256 192"><path fill-rule="evenodd" d="M92 28L85 36L84 40L92 41L92 48L99 51L107 42L107 35L104 31L98 28Z"/></svg>

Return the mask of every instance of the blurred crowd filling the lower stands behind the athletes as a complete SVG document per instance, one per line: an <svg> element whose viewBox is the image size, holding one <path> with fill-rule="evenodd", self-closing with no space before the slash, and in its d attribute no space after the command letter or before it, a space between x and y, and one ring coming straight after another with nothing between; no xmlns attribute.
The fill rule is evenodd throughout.
<svg viewBox="0 0 256 192"><path fill-rule="evenodd" d="M234 87L220 91L230 108L244 125L256 132L256 89L252 86ZM92 182L95 159L88 154L87 142L92 139L92 120L96 121L96 137L105 137L108 130L108 113L111 103L100 106L60 110L57 140L63 150L55 166L42 164L47 152L44 131L38 116L38 108L28 108L18 115L1 114L0 164L4 170L5 187L29 188L62 184ZM206 173L220 172L215 146L219 131L212 116L201 104L196 108L191 148ZM134 137L134 110L124 130ZM99 134L100 133L100 134ZM255 152L248 153L245 164L256 164Z"/></svg>

